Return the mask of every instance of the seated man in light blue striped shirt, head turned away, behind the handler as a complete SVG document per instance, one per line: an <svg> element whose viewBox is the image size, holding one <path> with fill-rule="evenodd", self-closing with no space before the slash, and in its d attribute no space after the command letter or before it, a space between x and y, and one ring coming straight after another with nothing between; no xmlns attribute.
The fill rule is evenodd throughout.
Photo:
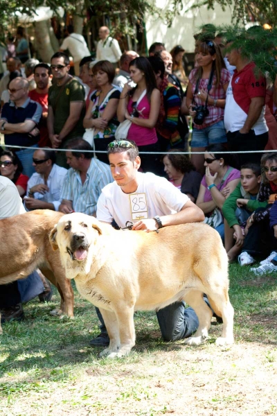
<svg viewBox="0 0 277 416"><path fill-rule="evenodd" d="M71 168L64 179L59 211L95 216L102 188L113 182L109 165L93 157L90 144L82 138L69 141L66 149L66 162Z"/></svg>

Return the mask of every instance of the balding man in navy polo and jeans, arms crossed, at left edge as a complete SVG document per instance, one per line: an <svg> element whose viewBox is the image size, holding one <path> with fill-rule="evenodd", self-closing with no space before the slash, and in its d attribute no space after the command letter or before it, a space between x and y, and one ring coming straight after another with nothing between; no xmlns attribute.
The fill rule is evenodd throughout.
<svg viewBox="0 0 277 416"><path fill-rule="evenodd" d="M10 81L10 102L3 105L0 130L6 146L19 146L15 152L23 166L23 173L30 177L35 172L32 165L33 149L39 141L37 125L42 116L42 106L28 97L29 83L25 78ZM22 146L22 147L21 147Z"/></svg>

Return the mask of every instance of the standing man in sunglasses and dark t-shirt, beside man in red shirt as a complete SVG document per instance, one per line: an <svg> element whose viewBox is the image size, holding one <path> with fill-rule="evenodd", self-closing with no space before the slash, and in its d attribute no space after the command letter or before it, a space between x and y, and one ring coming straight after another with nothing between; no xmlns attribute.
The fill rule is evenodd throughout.
<svg viewBox="0 0 277 416"><path fill-rule="evenodd" d="M48 133L53 148L65 148L67 141L84 134L84 87L69 75L69 57L65 53L54 53L51 69L55 83L48 92ZM68 167L65 152L57 153L57 164Z"/></svg>

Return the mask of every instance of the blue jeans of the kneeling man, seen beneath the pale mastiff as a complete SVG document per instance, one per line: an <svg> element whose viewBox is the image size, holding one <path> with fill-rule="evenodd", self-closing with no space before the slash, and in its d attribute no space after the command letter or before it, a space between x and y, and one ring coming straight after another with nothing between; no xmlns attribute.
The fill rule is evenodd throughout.
<svg viewBox="0 0 277 416"><path fill-rule="evenodd" d="M96 313L101 322L101 333L107 333L104 320L98 308ZM175 302L157 312L161 336L165 341L177 341L188 338L198 328L199 322L193 308L185 308L185 302Z"/></svg>

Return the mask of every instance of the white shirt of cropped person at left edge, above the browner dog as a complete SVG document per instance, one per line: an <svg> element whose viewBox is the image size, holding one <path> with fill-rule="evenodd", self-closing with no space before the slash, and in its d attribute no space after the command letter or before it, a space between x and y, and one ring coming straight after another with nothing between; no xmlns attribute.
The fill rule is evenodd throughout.
<svg viewBox="0 0 277 416"><path fill-rule="evenodd" d="M0 176L0 219L24 214L24 212L26 211L17 187L8 177Z"/></svg>

